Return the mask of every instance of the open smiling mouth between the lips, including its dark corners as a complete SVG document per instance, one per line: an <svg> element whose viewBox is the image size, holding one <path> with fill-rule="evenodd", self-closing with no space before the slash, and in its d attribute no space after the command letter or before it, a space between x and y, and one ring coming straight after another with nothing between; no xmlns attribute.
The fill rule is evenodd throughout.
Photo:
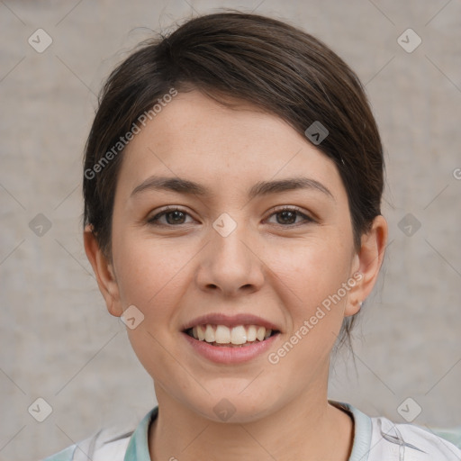
<svg viewBox="0 0 461 461"><path fill-rule="evenodd" d="M242 348L258 344L280 333L279 330L269 329L262 325L227 325L202 323L185 329L185 334L197 341L211 346L225 348Z"/></svg>

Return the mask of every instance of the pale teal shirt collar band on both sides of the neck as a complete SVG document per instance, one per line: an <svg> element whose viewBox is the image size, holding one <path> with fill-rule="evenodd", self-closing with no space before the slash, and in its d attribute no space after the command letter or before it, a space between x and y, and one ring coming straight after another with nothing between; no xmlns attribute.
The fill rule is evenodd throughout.
<svg viewBox="0 0 461 461"><path fill-rule="evenodd" d="M371 444L371 419L362 411L343 402L329 401L332 405L347 411L354 419L354 444L348 461L366 461ZM150 461L149 455L149 426L157 418L158 406L140 421L133 432L123 461Z"/></svg>

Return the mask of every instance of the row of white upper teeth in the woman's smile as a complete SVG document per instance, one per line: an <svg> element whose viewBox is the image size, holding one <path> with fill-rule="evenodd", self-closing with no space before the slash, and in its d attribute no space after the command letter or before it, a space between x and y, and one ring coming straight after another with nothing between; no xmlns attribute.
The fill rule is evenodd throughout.
<svg viewBox="0 0 461 461"><path fill-rule="evenodd" d="M229 328L225 325L197 325L192 329L192 336L199 341L216 344L234 344L236 346L267 339L272 330L258 325L239 325Z"/></svg>

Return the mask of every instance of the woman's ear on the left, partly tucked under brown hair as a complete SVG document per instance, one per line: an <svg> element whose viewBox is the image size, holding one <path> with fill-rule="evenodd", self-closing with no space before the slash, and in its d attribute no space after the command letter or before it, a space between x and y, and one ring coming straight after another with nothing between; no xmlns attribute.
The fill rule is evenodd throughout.
<svg viewBox="0 0 461 461"><path fill-rule="evenodd" d="M113 271L113 264L108 261L103 250L99 248L91 225L86 226L83 239L86 257L95 271L97 285L99 285L99 291L104 296L107 310L115 317L120 317L123 310L120 303L119 287Z"/></svg>

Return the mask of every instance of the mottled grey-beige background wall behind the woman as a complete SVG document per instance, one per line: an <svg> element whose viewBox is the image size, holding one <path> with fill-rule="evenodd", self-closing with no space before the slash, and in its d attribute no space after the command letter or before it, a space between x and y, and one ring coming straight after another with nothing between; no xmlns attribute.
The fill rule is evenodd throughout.
<svg viewBox="0 0 461 461"><path fill-rule="evenodd" d="M337 358L330 397L397 421L404 411L412 419L418 404L417 424L461 424L459 0L5 0L0 459L50 455L101 426L140 420L155 403L86 261L82 150L114 64L150 29L224 6L274 15L326 41L366 84L381 128L390 245L357 330L357 369L350 354ZM28 42L46 44L44 35L37 43L39 28L52 39L43 52ZM407 50L398 42L408 28L422 40L412 52L415 35L402 36ZM32 221L39 213L46 219ZM52 408L43 422L28 411L39 397ZM45 416L44 403L36 405L35 417Z"/></svg>

